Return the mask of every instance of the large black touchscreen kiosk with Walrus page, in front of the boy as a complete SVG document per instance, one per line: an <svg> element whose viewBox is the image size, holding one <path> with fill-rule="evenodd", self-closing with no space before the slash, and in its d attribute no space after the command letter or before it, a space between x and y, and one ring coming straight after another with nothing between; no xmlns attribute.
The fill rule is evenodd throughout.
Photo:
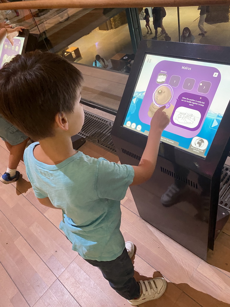
<svg viewBox="0 0 230 307"><path fill-rule="evenodd" d="M112 138L121 163L138 165L150 122L165 106L152 178L131 187L140 216L206 259L213 249L221 169L229 152L229 47L143 40Z"/></svg>

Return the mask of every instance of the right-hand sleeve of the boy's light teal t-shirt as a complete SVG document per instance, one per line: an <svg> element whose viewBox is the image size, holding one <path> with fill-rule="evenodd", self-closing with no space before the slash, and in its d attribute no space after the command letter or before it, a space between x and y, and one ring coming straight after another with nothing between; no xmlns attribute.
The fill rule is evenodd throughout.
<svg viewBox="0 0 230 307"><path fill-rule="evenodd" d="M96 189L99 198L122 200L134 177L131 165L99 160Z"/></svg>

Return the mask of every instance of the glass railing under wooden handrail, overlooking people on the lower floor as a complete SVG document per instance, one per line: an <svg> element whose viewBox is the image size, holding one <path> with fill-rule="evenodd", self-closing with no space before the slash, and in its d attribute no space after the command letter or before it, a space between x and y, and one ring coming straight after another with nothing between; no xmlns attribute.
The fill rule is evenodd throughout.
<svg viewBox="0 0 230 307"><path fill-rule="evenodd" d="M30 29L30 33L36 33L39 37L39 49L58 53L71 62L81 64L79 68L84 70L83 73L94 80L98 78L98 83L94 81L91 87L87 87L84 99L99 104L98 93L101 92L104 95L101 102L103 105L103 101L109 101L111 95L111 103L115 100L117 102L116 106L109 107L117 109L123 85L132 68L132 60L141 39L230 45L227 5L210 6L209 13L206 14L205 9L205 16L201 16L204 9L200 10L197 6L165 7L157 10L149 7L149 27L146 27L144 9L132 9L136 10L132 11L138 19L136 24L132 23L130 9L125 8L0 11L0 22L6 21L8 24L22 25ZM160 20L157 20L159 16ZM82 65L85 66L84 69ZM103 73L104 70L110 73ZM116 73L123 76L120 75L119 78ZM117 88L120 88L117 90L121 92L118 95L111 90L111 80L116 80ZM102 88L100 83L105 83L105 86Z"/></svg>

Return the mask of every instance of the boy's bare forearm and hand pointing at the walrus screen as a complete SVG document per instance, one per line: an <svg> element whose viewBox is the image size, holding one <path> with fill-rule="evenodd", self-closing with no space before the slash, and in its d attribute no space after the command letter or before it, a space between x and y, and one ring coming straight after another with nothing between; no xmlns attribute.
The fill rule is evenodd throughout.
<svg viewBox="0 0 230 307"><path fill-rule="evenodd" d="M159 108L151 120L148 141L140 163L138 166L133 166L134 178L131 185L140 185L148 181L155 170L161 134L170 122L164 109L165 106Z"/></svg>

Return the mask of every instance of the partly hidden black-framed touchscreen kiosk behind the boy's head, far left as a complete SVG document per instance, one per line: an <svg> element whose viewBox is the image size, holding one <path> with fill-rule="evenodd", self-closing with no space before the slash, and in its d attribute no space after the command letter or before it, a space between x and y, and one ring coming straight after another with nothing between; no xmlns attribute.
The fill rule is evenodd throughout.
<svg viewBox="0 0 230 307"><path fill-rule="evenodd" d="M13 38L13 46L8 38L5 38L2 44L0 44L0 68L17 54L23 54L25 52L26 43L28 40L29 30L24 29L22 33Z"/></svg>

